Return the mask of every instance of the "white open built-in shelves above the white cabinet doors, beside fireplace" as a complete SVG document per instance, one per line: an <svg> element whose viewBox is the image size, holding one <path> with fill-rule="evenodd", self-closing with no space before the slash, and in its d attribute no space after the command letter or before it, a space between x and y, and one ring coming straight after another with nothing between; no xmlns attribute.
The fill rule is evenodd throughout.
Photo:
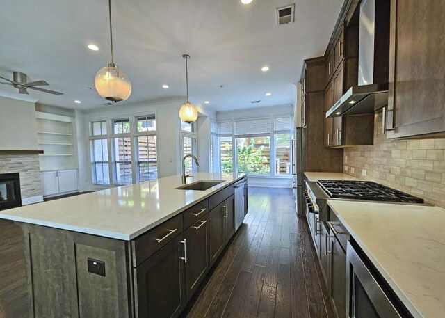
<svg viewBox="0 0 445 318"><path fill-rule="evenodd" d="M36 111L40 170L77 168L74 118Z"/></svg>

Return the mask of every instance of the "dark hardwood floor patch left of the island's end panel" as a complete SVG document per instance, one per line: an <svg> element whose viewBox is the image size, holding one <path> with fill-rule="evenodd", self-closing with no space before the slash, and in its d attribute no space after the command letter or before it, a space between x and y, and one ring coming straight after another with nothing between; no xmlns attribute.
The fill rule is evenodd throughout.
<svg viewBox="0 0 445 318"><path fill-rule="evenodd" d="M0 219L0 317L28 317L22 228Z"/></svg>

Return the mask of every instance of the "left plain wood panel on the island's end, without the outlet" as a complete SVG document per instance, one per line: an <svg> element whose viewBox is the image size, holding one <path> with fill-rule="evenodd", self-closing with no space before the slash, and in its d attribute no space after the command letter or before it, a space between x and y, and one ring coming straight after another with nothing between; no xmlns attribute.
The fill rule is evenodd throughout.
<svg viewBox="0 0 445 318"><path fill-rule="evenodd" d="M30 317L79 317L72 232L26 223L22 228Z"/></svg>

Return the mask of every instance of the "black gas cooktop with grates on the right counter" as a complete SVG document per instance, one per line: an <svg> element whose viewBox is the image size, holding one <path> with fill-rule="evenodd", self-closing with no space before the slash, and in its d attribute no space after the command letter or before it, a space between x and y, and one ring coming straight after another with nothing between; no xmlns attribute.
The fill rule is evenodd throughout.
<svg viewBox="0 0 445 318"><path fill-rule="evenodd" d="M423 199L371 181L318 180L331 198L423 203Z"/></svg>

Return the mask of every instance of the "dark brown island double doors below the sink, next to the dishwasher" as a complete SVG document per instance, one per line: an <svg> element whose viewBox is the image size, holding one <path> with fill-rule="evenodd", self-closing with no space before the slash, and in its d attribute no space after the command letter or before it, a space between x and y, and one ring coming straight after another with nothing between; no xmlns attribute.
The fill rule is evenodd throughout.
<svg viewBox="0 0 445 318"><path fill-rule="evenodd" d="M213 264L223 251L227 241L235 233L234 195L230 196L209 213L210 256Z"/></svg>

